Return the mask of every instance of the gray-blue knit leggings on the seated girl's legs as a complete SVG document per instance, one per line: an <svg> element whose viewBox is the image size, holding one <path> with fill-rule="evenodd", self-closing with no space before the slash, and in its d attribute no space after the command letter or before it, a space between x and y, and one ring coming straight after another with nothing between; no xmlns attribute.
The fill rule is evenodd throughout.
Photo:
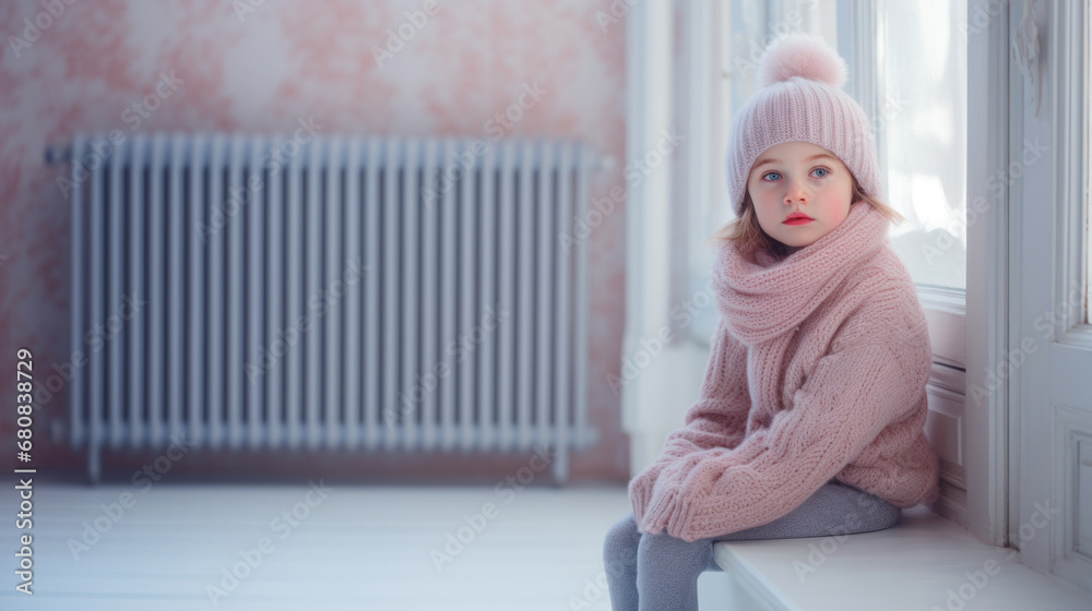
<svg viewBox="0 0 1092 611"><path fill-rule="evenodd" d="M882 530L898 524L899 507L834 480L800 506L753 528L688 543L661 531L637 530L630 512L607 531L603 563L614 611L697 611L698 576L721 571L713 562L713 543L749 539L828 537Z"/></svg>

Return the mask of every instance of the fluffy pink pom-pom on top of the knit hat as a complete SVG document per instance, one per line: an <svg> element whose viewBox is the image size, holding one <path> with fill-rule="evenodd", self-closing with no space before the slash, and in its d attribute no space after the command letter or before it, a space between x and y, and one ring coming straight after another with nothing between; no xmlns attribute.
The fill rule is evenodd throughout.
<svg viewBox="0 0 1092 611"><path fill-rule="evenodd" d="M768 87L793 76L841 87L846 79L845 61L822 38L790 34L770 45L759 61L759 84Z"/></svg>

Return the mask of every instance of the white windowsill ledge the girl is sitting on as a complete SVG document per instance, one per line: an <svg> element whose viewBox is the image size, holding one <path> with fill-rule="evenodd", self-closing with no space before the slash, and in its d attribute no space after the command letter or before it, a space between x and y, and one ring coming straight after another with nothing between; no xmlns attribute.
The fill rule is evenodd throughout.
<svg viewBox="0 0 1092 611"><path fill-rule="evenodd" d="M923 505L893 528L838 539L715 543L713 558L771 611L1092 609L1092 596Z"/></svg>

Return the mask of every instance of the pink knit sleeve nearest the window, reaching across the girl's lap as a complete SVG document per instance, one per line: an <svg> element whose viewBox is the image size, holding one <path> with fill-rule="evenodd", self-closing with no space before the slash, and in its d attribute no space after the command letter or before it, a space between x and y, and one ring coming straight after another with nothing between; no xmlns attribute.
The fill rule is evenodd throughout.
<svg viewBox="0 0 1092 611"><path fill-rule="evenodd" d="M792 409L769 429L658 482L665 493L650 503L642 530L666 527L695 541L767 524L799 506L917 404L924 380L900 354L916 357L868 344L821 358Z"/></svg>

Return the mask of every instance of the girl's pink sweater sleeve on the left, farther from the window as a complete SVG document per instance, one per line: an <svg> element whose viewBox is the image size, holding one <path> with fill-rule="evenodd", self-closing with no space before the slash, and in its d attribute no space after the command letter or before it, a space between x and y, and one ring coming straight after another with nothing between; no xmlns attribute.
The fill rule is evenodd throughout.
<svg viewBox="0 0 1092 611"><path fill-rule="evenodd" d="M667 435L660 457L629 484L633 516L640 524L661 471L686 457L688 466L738 445L750 411L747 390L747 347L717 323L705 375L696 400L684 415L684 426ZM712 451L712 452L710 452Z"/></svg>

